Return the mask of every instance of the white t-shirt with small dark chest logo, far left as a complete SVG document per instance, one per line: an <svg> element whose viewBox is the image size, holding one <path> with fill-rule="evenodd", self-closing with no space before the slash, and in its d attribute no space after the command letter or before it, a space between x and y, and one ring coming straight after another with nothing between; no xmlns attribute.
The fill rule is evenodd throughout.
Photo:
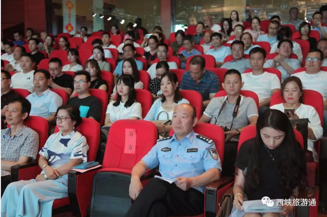
<svg viewBox="0 0 327 217"><path fill-rule="evenodd" d="M22 88L26 89L29 92L33 93L33 77L34 77L34 71L32 70L28 73L15 73L13 76L11 76L11 88Z"/></svg>

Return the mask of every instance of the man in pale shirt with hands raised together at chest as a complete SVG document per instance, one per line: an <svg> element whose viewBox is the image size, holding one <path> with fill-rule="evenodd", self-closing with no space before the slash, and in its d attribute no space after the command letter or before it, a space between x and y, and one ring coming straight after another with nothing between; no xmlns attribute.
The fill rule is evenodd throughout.
<svg viewBox="0 0 327 217"><path fill-rule="evenodd" d="M294 70L301 68L301 63L297 59L289 59L292 54L293 43L289 39L279 41L277 45L278 55L271 60L267 60L264 68L277 68L282 73L282 82L291 76Z"/></svg>

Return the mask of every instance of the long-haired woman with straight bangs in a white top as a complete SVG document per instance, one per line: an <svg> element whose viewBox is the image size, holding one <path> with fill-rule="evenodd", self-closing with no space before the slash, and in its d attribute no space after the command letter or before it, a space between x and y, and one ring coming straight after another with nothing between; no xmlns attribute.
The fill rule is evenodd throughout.
<svg viewBox="0 0 327 217"><path fill-rule="evenodd" d="M122 74L117 81L117 99L109 103L104 126L110 127L113 122L121 119L142 119L141 104L135 101L133 76Z"/></svg>

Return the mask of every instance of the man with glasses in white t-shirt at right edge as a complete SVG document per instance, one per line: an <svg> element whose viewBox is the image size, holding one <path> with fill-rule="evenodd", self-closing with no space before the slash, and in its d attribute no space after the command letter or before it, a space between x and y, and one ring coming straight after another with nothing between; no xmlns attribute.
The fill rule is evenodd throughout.
<svg viewBox="0 0 327 217"><path fill-rule="evenodd" d="M312 49L306 56L306 71L295 73L301 79L303 89L310 89L319 92L324 100L323 129L324 136L327 135L327 72L321 71L320 66L323 60L323 53L319 49Z"/></svg>

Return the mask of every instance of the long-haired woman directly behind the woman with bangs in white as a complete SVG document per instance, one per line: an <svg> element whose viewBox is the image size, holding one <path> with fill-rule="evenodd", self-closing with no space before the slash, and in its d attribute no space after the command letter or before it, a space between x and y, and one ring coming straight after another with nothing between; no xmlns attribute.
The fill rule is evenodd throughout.
<svg viewBox="0 0 327 217"><path fill-rule="evenodd" d="M137 70L137 65L134 59L132 58L127 58L126 60L124 60L123 62L123 74L129 74L131 76L133 76L134 78L134 88L135 89L143 89L144 84L143 82L140 80L140 74L139 71ZM116 85L117 86L117 85ZM113 88L110 100L113 100L116 96L116 86Z"/></svg>

